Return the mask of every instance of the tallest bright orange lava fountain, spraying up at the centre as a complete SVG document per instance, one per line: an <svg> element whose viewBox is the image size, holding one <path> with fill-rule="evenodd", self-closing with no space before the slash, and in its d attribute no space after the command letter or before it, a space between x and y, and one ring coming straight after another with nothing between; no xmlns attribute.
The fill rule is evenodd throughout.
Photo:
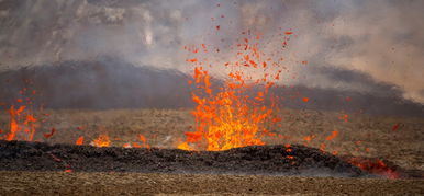
<svg viewBox="0 0 424 196"><path fill-rule="evenodd" d="M196 131L186 132L186 141L178 146L179 149L217 151L265 145L263 137L275 135L266 129L265 124L278 123L280 118L272 115L276 105L272 103L269 106L266 101L272 100L269 88L279 79L281 70L267 67L278 67L278 64L261 58L258 39L259 36L253 42L244 38L237 45L237 60L223 65L230 72L224 85L217 90L213 89L208 66L201 59L187 60L194 65L194 79L189 83L197 89L192 93L192 100L197 104L192 112ZM200 51L196 47L185 48L194 54ZM204 44L202 48L207 51Z"/></svg>

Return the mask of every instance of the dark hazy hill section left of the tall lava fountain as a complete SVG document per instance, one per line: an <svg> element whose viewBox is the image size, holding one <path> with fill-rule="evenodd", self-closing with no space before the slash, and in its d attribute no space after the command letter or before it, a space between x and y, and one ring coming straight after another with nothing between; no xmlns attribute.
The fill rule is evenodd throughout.
<svg viewBox="0 0 424 196"><path fill-rule="evenodd" d="M185 107L192 105L187 76L104 59L64 61L0 73L1 100L13 103L23 88L51 108ZM4 81L4 82L3 82Z"/></svg>

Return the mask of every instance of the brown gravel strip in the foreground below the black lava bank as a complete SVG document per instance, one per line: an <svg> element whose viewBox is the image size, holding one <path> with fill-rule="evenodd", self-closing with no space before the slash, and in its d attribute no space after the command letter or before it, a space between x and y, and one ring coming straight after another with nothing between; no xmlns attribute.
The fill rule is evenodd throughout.
<svg viewBox="0 0 424 196"><path fill-rule="evenodd" d="M423 180L0 172L0 195L423 195Z"/></svg>

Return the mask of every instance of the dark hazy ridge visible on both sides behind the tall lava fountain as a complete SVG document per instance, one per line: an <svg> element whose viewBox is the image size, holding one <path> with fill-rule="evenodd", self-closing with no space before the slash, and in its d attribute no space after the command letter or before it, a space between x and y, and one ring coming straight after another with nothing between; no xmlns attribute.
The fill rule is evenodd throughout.
<svg viewBox="0 0 424 196"><path fill-rule="evenodd" d="M119 58L62 61L0 72L0 103L15 103L23 88L36 90L35 103L48 108L179 108L194 106L187 76L178 70L135 66ZM26 84L25 80L33 83ZM216 80L217 85L221 84ZM215 87L216 88L216 87ZM377 96L354 91L281 88L271 91L289 108L364 112L424 117L424 106L400 94ZM302 97L309 97L303 102Z"/></svg>

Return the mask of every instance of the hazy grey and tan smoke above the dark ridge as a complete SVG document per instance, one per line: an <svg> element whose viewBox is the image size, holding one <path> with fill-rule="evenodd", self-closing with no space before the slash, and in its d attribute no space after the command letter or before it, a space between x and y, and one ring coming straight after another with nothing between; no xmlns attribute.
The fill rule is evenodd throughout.
<svg viewBox="0 0 424 196"><path fill-rule="evenodd" d="M0 66L108 55L188 72L185 45L220 48L203 57L222 64L250 30L264 37L265 53L287 57L300 76L284 84L384 95L391 90L382 83L424 104L423 10L419 0L0 0ZM277 35L289 30L281 51Z"/></svg>

